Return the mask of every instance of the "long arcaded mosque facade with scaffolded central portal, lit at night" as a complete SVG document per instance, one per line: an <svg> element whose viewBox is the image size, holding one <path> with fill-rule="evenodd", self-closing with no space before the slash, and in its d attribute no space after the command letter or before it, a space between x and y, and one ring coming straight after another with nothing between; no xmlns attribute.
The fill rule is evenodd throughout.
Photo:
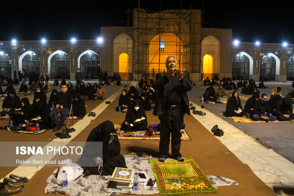
<svg viewBox="0 0 294 196"><path fill-rule="evenodd" d="M0 41L0 74L44 73L74 79L77 68L98 79L101 69L122 78L151 78L162 72L167 56L193 81L243 76L256 81L294 78L294 45L233 43L232 29L201 28L201 10L147 11L135 8L131 26L101 27L102 42Z"/></svg>

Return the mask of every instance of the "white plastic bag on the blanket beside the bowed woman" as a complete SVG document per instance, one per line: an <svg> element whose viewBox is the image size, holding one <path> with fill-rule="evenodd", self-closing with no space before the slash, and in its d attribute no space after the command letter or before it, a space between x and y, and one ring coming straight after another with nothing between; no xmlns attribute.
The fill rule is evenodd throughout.
<svg viewBox="0 0 294 196"><path fill-rule="evenodd" d="M67 175L67 182L70 183L74 181L77 177L82 175L84 170L77 163L72 163L71 159L66 159L64 161L69 163L59 165L56 182L62 182L62 171L65 170Z"/></svg>

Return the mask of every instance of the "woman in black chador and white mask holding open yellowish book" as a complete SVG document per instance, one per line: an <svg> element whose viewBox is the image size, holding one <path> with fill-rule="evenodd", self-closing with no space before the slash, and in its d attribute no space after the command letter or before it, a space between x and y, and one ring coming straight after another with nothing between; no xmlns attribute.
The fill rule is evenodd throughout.
<svg viewBox="0 0 294 196"><path fill-rule="evenodd" d="M139 122L135 122L136 119L146 118ZM144 108L141 106L141 101L138 99L134 100L133 105L130 106L126 114L126 118L121 124L121 130L123 131L144 131L147 128L147 116Z"/></svg>

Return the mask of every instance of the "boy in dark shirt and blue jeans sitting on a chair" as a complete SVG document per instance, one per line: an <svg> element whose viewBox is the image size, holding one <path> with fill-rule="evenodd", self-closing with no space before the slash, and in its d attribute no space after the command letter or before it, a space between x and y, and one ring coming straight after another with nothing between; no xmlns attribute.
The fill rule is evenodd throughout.
<svg viewBox="0 0 294 196"><path fill-rule="evenodd" d="M57 96L57 105L55 108L52 108L50 112L50 118L56 127L53 129L53 132L60 130L61 125L64 123L64 120L67 117L67 114L70 111L71 104L73 103L73 96L71 93L67 92L66 84L61 85L61 92L56 94ZM59 113L59 109L61 110L61 118L59 122L56 119L56 114Z"/></svg>

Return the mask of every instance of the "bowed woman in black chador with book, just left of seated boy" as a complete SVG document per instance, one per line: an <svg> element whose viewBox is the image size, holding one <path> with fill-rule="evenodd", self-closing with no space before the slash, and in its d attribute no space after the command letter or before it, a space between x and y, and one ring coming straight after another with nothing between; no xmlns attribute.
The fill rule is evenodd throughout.
<svg viewBox="0 0 294 196"><path fill-rule="evenodd" d="M50 118L50 106L43 100L38 100L32 104L31 119L41 117L38 121L40 129L52 129L52 120ZM33 120L34 122L34 120Z"/></svg>

